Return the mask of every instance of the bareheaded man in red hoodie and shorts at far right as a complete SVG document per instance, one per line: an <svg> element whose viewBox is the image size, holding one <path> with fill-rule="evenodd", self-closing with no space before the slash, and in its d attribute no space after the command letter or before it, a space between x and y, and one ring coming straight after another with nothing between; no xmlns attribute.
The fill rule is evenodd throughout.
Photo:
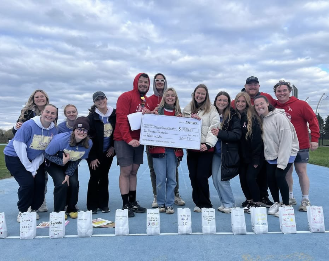
<svg viewBox="0 0 329 261"><path fill-rule="evenodd" d="M310 180L307 176L306 166L309 161L309 148L314 151L318 147L318 139L320 137L319 123L314 111L307 102L299 100L295 97L290 97L292 87L290 82L280 80L274 85L274 93L278 102L276 108L284 109L286 117L295 127L297 138L299 141L299 151L294 161L295 170L299 178L299 185L302 190L302 200L299 206L299 211L306 211L307 206L311 206L309 200ZM311 130L311 141L309 138L307 123ZM289 185L289 204L296 205L296 200L293 196L293 165L287 173L286 180Z"/></svg>

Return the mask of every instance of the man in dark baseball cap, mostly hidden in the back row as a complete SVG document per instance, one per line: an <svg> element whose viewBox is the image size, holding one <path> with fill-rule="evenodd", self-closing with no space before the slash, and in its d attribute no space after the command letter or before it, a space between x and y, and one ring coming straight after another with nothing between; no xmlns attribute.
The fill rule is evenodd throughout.
<svg viewBox="0 0 329 261"><path fill-rule="evenodd" d="M241 92L246 92L249 94L251 103L254 105L254 98L259 95L264 95L270 104L273 106L276 104L276 100L272 98L271 95L268 93L263 93L259 91L260 85L259 80L255 76L250 76L246 79L246 83L244 85L244 88L241 90ZM235 108L234 101L231 102L231 107ZM267 185L267 179L266 179L266 164L262 167L262 170L259 172L257 176L257 184L259 186L260 191L260 204L264 207L271 207L274 203L271 202L268 198L268 185ZM246 207L247 200L242 203L242 207Z"/></svg>

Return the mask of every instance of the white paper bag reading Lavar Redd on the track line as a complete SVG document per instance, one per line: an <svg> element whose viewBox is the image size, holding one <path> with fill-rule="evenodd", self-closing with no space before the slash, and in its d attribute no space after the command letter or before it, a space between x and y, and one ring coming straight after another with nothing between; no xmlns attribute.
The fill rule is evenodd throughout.
<svg viewBox="0 0 329 261"><path fill-rule="evenodd" d="M37 236L37 212L21 214L19 239L33 239Z"/></svg>

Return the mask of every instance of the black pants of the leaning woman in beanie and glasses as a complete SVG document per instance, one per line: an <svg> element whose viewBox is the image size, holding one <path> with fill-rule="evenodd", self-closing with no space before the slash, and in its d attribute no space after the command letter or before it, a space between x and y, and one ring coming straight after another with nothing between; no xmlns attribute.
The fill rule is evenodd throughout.
<svg viewBox="0 0 329 261"><path fill-rule="evenodd" d="M48 161L47 161L48 162ZM75 205L78 203L79 197L79 180L78 180L78 168L70 176L67 186L67 182L64 184L66 166L60 166L53 162L50 162L49 166L46 166L48 174L53 178L54 182L54 211L64 211L67 204L66 212L77 212Z"/></svg>

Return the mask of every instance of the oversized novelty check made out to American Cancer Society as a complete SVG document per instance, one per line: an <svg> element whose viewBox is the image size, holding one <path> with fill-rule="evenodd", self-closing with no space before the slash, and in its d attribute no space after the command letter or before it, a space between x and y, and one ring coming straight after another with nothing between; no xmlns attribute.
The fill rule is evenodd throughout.
<svg viewBox="0 0 329 261"><path fill-rule="evenodd" d="M200 149L202 120L144 114L140 144L173 148Z"/></svg>

